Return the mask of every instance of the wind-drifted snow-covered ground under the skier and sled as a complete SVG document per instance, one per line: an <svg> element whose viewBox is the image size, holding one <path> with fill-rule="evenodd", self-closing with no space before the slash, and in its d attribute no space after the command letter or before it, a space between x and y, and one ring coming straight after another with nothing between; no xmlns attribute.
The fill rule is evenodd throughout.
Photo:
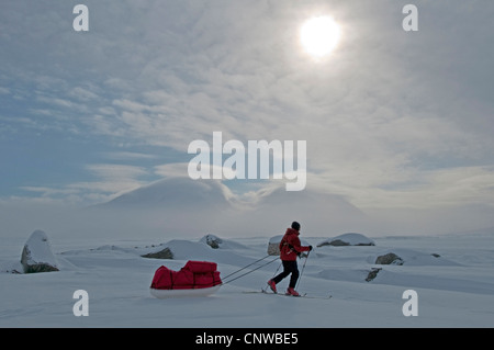
<svg viewBox="0 0 494 350"><path fill-rule="evenodd" d="M270 237L223 238L218 249L204 239L53 239L60 271L11 273L19 268L25 239L2 239L0 247L0 327L493 327L494 233L440 236L370 237L375 246L323 246L328 237L303 237L314 246L297 290L307 298L245 293L260 291L278 260L224 284L207 297L158 300L150 295L161 264L179 270L188 260L214 261L221 275L267 256ZM162 246L150 247L151 244ZM143 251L169 247L173 260L142 258ZM403 264L374 264L394 252ZM439 257L433 256L439 255ZM260 263L276 259L268 257ZM299 261L302 270L305 259ZM257 268L254 264L250 269ZM366 281L373 268L382 268ZM240 272L247 272L243 270ZM284 291L288 279L279 285ZM75 316L88 294L88 316ZM405 291L416 298L404 298ZM412 304L412 302L416 302ZM406 304L406 305L405 305ZM404 305L417 316L405 316Z"/></svg>

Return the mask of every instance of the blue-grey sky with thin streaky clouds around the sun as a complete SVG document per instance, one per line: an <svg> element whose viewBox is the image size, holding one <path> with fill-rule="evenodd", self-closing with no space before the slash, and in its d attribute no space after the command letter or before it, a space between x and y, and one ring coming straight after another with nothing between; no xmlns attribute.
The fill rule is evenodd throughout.
<svg viewBox="0 0 494 350"><path fill-rule="evenodd" d="M321 59L299 39L317 15L341 29ZM2 0L0 203L187 176L189 144L218 131L306 140L307 189L367 213L494 225L493 18L490 0Z"/></svg>

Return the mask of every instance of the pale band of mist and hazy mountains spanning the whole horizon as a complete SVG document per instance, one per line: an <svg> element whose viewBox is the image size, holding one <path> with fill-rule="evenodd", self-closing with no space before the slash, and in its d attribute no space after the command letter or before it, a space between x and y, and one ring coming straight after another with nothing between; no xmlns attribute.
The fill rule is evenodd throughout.
<svg viewBox="0 0 494 350"><path fill-rule="evenodd" d="M117 234L122 239L157 242L206 234L270 237L283 234L293 221L301 223L301 235L305 237L352 232L370 237L436 235L492 227L485 219L490 210L478 206L369 210L311 185L289 192L283 183L267 182L262 188L237 193L227 184L171 177L85 208L66 203L0 202L2 235L25 239L33 230L43 229L54 238ZM475 225L464 221L465 216L478 217Z"/></svg>

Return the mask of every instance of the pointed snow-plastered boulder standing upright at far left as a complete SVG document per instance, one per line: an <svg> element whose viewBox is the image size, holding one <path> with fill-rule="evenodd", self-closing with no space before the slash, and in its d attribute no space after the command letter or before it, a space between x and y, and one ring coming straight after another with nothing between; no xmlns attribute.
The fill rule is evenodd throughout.
<svg viewBox="0 0 494 350"><path fill-rule="evenodd" d="M36 229L31 234L22 249L21 264L24 273L59 271L48 237L43 230Z"/></svg>

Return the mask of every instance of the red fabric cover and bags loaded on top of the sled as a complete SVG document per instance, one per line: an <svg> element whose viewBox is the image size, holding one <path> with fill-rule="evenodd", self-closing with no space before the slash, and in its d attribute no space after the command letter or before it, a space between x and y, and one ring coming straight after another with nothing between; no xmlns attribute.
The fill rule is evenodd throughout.
<svg viewBox="0 0 494 350"><path fill-rule="evenodd" d="M216 263L209 261L188 261L180 271L164 266L156 270L151 282L155 290L192 290L222 284Z"/></svg>

